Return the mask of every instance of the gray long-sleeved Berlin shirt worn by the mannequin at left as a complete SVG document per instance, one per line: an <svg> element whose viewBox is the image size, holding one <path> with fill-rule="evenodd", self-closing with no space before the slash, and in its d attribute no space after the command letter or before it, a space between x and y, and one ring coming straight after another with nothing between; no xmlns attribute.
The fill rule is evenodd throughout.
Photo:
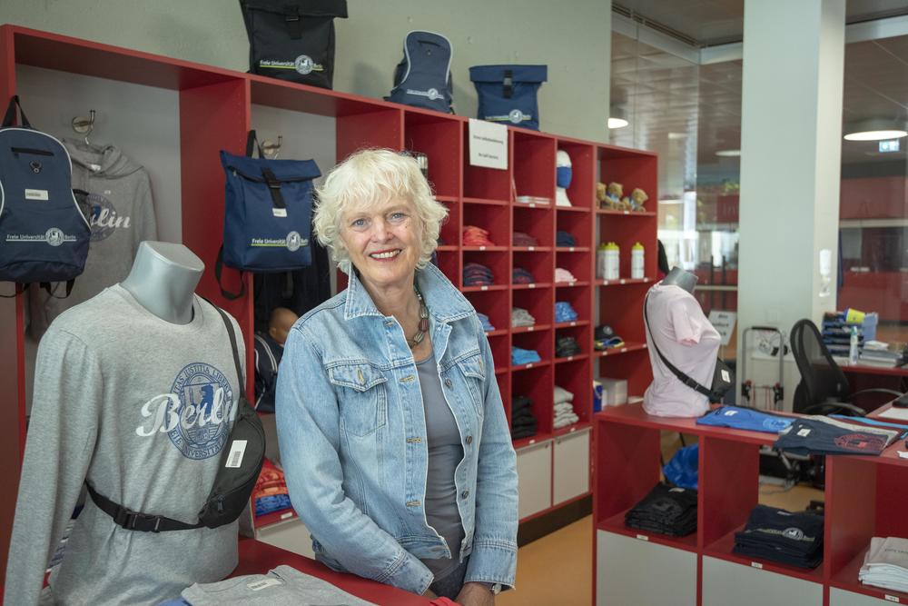
<svg viewBox="0 0 908 606"><path fill-rule="evenodd" d="M193 312L191 323L165 322L117 284L63 313L44 335L4 603L38 602L86 480L133 511L198 521L240 384L221 317L198 297ZM89 499L41 598L156 604L192 583L222 580L236 563L236 522L127 531Z"/></svg>

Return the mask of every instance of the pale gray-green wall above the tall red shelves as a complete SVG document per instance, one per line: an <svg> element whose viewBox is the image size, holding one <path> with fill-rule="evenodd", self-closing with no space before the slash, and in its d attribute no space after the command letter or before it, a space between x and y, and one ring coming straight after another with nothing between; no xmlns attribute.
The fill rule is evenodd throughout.
<svg viewBox="0 0 908 606"><path fill-rule="evenodd" d="M390 92L412 29L454 45L454 103L476 114L470 65L548 65L539 93L542 129L607 140L611 3L607 0L348 0L337 20L336 90ZM0 23L25 25L245 71L249 45L235 0L2 0Z"/></svg>

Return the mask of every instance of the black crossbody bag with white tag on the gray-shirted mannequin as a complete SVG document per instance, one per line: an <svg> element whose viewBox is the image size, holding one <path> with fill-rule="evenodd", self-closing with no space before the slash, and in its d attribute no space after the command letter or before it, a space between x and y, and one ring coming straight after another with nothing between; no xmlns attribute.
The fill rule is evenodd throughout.
<svg viewBox="0 0 908 606"><path fill-rule="evenodd" d="M207 301L207 299L206 299ZM252 409L242 389L242 370L240 366L240 353L236 346L236 335L226 313L217 305L208 301L221 314L230 344L233 350L233 365L240 385L240 402L238 402L236 417L230 436L221 452L221 462L218 465L217 475L214 477L212 491L202 505L199 512L199 522L187 524L173 520L163 515L133 512L111 501L100 492L94 490L91 484L85 483L88 493L94 504L101 511L114 519L117 526L122 526L128 531L140 532L166 532L189 531L195 528L218 528L229 524L240 517L249 502L255 482L262 472L262 462L265 458L265 432L262 430L262 421Z"/></svg>

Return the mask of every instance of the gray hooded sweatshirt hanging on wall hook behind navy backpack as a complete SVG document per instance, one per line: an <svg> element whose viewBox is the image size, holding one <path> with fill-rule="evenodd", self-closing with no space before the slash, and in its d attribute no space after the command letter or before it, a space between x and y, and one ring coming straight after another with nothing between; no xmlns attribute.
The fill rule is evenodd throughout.
<svg viewBox="0 0 908 606"><path fill-rule="evenodd" d="M35 340L60 313L122 282L139 243L157 240L158 234L151 180L142 166L114 145L89 147L69 139L64 145L73 158L73 187L89 194L92 240L85 271L75 279L73 293L57 298L65 293L64 283L56 284L53 297L43 289L31 289L29 330Z"/></svg>

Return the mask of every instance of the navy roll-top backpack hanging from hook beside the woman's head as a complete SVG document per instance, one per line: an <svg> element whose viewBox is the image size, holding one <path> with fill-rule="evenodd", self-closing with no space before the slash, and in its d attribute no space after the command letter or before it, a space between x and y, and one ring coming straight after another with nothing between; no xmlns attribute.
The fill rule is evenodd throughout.
<svg viewBox="0 0 908 606"><path fill-rule="evenodd" d="M221 283L222 265L241 271L276 273L312 263L312 180L321 176L313 160L269 160L252 157L255 131L246 155L221 152L226 174L224 243L214 265ZM245 293L222 294L236 299Z"/></svg>

